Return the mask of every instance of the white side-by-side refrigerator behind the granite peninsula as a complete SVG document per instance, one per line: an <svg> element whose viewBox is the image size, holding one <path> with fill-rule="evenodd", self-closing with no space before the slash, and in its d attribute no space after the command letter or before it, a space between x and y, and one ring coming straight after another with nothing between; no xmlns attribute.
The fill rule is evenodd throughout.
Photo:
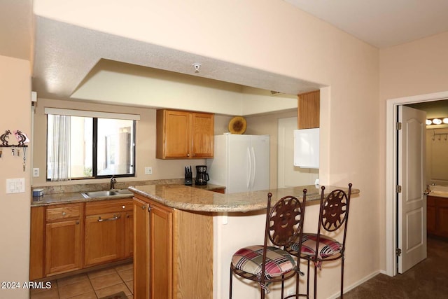
<svg viewBox="0 0 448 299"><path fill-rule="evenodd" d="M216 135L207 172L209 183L225 186L225 193L269 189L269 135Z"/></svg>

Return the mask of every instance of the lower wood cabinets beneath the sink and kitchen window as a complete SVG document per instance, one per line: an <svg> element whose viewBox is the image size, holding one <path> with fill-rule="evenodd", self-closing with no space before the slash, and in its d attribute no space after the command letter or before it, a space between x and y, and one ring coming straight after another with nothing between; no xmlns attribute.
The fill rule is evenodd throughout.
<svg viewBox="0 0 448 299"><path fill-rule="evenodd" d="M132 258L132 200L31 207L29 279Z"/></svg>

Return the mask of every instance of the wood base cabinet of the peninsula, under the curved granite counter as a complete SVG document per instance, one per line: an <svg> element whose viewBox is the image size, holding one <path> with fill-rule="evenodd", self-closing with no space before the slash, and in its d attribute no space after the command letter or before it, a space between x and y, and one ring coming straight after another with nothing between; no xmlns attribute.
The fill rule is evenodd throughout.
<svg viewBox="0 0 448 299"><path fill-rule="evenodd" d="M134 298L213 298L213 218L134 196Z"/></svg>

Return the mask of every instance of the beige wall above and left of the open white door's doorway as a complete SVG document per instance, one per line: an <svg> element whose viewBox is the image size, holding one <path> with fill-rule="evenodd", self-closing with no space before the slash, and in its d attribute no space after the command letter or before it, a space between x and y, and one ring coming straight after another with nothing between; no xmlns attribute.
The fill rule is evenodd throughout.
<svg viewBox="0 0 448 299"><path fill-rule="evenodd" d="M380 53L380 97L378 128L379 158L381 181L380 202L380 249L381 269L386 267L384 242L386 235L386 101L398 97L426 95L434 92L448 91L448 32L419 39L400 46L381 49Z"/></svg>

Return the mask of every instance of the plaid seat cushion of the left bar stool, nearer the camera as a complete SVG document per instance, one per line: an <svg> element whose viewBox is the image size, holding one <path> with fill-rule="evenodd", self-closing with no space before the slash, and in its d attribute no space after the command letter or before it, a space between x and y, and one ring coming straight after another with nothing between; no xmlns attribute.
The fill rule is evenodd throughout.
<svg viewBox="0 0 448 299"><path fill-rule="evenodd" d="M239 249L232 256L232 265L238 270L261 277L263 246L254 245ZM295 260L290 253L274 246L267 246L265 277L272 279L295 270Z"/></svg>

